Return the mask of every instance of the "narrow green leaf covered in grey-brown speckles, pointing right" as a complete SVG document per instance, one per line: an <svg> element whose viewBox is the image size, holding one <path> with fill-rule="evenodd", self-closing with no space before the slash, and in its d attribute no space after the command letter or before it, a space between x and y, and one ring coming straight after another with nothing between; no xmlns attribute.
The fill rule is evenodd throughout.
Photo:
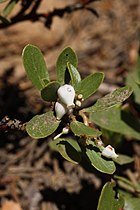
<svg viewBox="0 0 140 210"><path fill-rule="evenodd" d="M132 92L132 88L129 86L118 88L112 93L107 94L103 98L98 99L93 106L86 108L85 111L99 112L110 109L111 107L125 101L132 94Z"/></svg>

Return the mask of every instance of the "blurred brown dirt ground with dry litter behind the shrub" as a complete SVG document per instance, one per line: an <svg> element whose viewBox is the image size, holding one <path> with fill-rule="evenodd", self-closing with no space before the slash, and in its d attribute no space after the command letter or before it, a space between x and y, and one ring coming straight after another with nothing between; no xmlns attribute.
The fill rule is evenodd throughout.
<svg viewBox="0 0 140 210"><path fill-rule="evenodd" d="M42 0L38 12L49 13L81 2L85 1ZM140 2L101 0L87 7L90 9L54 16L47 26L43 19L19 21L7 27L0 24L0 119L7 115L27 122L48 108L23 68L21 54L28 43L43 52L52 80L57 56L70 46L77 53L83 77L104 71L107 86L102 86L101 91L122 85L126 70L132 69L136 62ZM98 15L91 12L93 9ZM19 10L20 4L11 18ZM101 187L108 178L94 169L87 171L65 161L49 148L49 140L33 140L21 131L1 131L1 206L13 200L22 210L96 210Z"/></svg>

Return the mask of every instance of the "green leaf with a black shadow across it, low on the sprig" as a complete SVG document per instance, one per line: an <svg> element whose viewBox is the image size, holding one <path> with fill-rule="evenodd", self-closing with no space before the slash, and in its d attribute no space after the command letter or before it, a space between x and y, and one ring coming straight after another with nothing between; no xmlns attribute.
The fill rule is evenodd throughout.
<svg viewBox="0 0 140 210"><path fill-rule="evenodd" d="M58 138L49 143L51 149L58 151L62 157L72 163L79 163L81 161L81 148L74 139Z"/></svg>

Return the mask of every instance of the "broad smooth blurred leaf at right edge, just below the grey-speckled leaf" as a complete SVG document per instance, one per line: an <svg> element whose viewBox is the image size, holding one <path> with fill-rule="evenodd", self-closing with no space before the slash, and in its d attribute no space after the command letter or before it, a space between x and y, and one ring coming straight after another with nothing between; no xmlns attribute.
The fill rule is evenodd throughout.
<svg viewBox="0 0 140 210"><path fill-rule="evenodd" d="M132 114L121 111L118 107L90 114L95 124L133 139L140 140L140 123Z"/></svg>

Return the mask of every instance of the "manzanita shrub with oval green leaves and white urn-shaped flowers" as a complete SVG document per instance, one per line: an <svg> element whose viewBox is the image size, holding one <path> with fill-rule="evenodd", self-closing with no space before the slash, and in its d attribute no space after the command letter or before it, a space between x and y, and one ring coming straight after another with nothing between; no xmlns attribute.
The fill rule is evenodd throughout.
<svg viewBox="0 0 140 210"><path fill-rule="evenodd" d="M34 116L27 123L27 133L34 139L50 136L50 147L66 160L111 175L111 181L102 189L98 210L132 209L129 205L132 196L124 196L123 191L115 186L119 182L125 185L129 182L132 189L134 186L126 178L115 175L115 171L117 165L131 163L133 159L117 154L111 145L105 146L101 139L102 132L96 126L140 139L138 129L130 127L121 117L122 113L128 115L121 104L132 94L132 88L124 86L116 89L92 106L85 107L87 103L84 101L103 82L103 73L96 72L81 79L77 56L70 47L58 56L56 81L51 81L43 55L36 46L27 45L22 57L28 78L40 91L42 99L51 102L48 112ZM139 124L133 116L130 118Z"/></svg>

